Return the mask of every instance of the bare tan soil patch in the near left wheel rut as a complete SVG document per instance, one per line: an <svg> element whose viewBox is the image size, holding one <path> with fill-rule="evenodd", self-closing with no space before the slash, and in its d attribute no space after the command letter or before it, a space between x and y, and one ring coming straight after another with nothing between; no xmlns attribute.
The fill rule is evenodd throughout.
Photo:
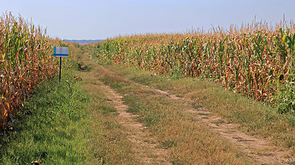
<svg viewBox="0 0 295 165"><path fill-rule="evenodd" d="M122 101L122 96L115 93L111 87L98 83L108 91L108 101L117 109L119 123L128 130L129 140L133 144L133 151L135 157L140 160L140 164L170 164L169 155L166 149L159 148L158 142L151 137L151 133L135 118L138 115L126 112L128 106Z"/></svg>

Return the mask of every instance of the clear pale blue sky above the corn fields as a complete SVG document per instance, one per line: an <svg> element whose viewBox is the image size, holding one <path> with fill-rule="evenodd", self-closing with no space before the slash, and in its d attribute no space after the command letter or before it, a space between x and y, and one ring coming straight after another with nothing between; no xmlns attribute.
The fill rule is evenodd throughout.
<svg viewBox="0 0 295 165"><path fill-rule="evenodd" d="M256 21L295 19L295 0L6 0L1 12L32 19L59 39L106 39L119 34L186 32Z"/></svg>

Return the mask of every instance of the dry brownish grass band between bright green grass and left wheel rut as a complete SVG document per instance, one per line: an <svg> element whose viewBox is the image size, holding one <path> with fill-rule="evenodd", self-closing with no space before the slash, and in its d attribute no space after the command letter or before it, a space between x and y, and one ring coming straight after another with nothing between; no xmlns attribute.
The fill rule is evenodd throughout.
<svg viewBox="0 0 295 165"><path fill-rule="evenodd" d="M82 48L82 45L70 43L70 50L75 58L82 63L83 57L82 65L87 66L86 70L77 68L75 73L82 78L83 88L91 97L87 110L91 115L91 132L88 133L88 149L91 155L88 155L88 164L137 164L131 142L126 137L127 130L119 124L114 105L108 102L108 91L97 81L97 69L101 67L88 58L87 46Z"/></svg>

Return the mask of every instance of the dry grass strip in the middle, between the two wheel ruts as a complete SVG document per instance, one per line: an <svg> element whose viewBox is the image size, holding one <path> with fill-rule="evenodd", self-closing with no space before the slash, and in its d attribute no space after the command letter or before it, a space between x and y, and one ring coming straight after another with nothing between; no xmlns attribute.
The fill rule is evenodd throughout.
<svg viewBox="0 0 295 165"><path fill-rule="evenodd" d="M126 76L122 67L106 68ZM158 147L168 149L173 164L251 164L243 153L182 111L184 106L189 106L182 104L182 100L157 96L151 89L110 71L100 70L97 74L102 75L106 85L124 96L128 111L140 116L137 120L160 142Z"/></svg>

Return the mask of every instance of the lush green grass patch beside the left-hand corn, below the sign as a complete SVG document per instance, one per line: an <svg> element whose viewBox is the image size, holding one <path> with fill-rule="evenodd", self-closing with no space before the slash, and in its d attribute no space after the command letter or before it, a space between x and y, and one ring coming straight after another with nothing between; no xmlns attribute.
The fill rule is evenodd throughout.
<svg viewBox="0 0 295 165"><path fill-rule="evenodd" d="M36 87L23 109L1 132L0 164L30 164L40 159L46 164L84 164L90 98L63 72L58 79ZM68 80L68 81L66 81Z"/></svg>

